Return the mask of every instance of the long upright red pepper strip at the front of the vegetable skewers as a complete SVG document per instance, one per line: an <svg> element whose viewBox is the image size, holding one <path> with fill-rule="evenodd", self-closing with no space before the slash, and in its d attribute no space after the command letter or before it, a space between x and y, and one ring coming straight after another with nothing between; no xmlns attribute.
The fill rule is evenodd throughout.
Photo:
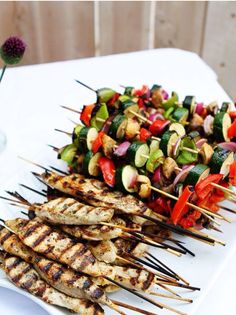
<svg viewBox="0 0 236 315"><path fill-rule="evenodd" d="M188 212L189 207L186 205L186 203L188 202L192 194L193 191L190 189L190 186L188 185L184 188L182 195L176 202L173 212L171 213L171 219L175 225Z"/></svg>

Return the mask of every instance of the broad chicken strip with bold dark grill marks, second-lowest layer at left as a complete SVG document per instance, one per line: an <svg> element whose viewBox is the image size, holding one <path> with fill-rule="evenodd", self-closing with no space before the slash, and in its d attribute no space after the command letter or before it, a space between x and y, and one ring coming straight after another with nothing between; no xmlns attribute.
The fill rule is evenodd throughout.
<svg viewBox="0 0 236 315"><path fill-rule="evenodd" d="M98 262L86 245L53 230L37 218L31 221L20 218L7 220L5 224L25 245L49 259L91 276L114 277L113 268L108 265L104 267L104 263Z"/></svg>

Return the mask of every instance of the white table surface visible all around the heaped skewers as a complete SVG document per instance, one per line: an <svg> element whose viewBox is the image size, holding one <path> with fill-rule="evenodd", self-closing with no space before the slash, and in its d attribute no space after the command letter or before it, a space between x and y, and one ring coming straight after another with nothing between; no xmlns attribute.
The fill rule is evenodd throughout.
<svg viewBox="0 0 236 315"><path fill-rule="evenodd" d="M78 116L63 111L59 105L79 108L95 100L95 95L76 84L74 79L95 89L109 86L122 90L120 84L141 86L157 83L169 92L177 91L180 98L193 94L198 101L206 103L229 100L218 84L216 74L196 54L177 49L8 69L0 86L0 128L5 131L8 141L6 150L0 154L1 194L5 189L11 189L13 182L25 183L29 176L26 172L28 174L31 167L20 161L18 155L44 165L55 165L56 156L46 144L61 146L68 142L68 138L56 134L53 129L58 127L69 131L73 124L67 118L78 121ZM6 218L10 214L5 208L6 205L1 203L0 215ZM194 280L193 285L202 287L200 293L193 294L195 302L183 306L188 314L235 314L236 218L232 218L234 222L231 225L222 224L225 233L217 235L227 241L226 247L211 248L187 240L197 254L195 258L176 258L160 252L160 257L170 266L176 266L180 273ZM122 298L126 297L122 295ZM35 303L8 289L0 288L0 301L1 313L47 314ZM145 307L154 310L148 305ZM158 314L169 312L158 310Z"/></svg>

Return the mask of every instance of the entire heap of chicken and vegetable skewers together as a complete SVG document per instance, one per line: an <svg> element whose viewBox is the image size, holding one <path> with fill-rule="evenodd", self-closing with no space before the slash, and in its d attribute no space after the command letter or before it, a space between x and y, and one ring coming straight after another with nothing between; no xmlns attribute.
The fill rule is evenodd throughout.
<svg viewBox="0 0 236 315"><path fill-rule="evenodd" d="M108 297L119 289L184 314L156 299L191 303L173 288L199 288L148 249L194 256L172 232L224 245L202 230L230 222L218 203L236 200L235 111L192 96L180 102L158 85L93 92L96 103L79 112L82 124L73 133L57 129L72 138L52 146L68 172L31 162L43 169L33 175L46 189L21 184L45 202L10 191L1 197L26 216L2 220L1 267L18 287L79 314L104 314L101 305L153 314Z"/></svg>

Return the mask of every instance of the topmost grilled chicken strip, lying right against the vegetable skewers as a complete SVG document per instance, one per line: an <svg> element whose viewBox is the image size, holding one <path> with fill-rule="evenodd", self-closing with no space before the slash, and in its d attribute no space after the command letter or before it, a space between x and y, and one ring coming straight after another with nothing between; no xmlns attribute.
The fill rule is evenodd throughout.
<svg viewBox="0 0 236 315"><path fill-rule="evenodd" d="M84 178L79 174L61 176L54 172L42 174L46 184L61 192L85 200L88 204L113 208L129 214L148 214L146 205L132 195L110 191L105 183L97 179Z"/></svg>

